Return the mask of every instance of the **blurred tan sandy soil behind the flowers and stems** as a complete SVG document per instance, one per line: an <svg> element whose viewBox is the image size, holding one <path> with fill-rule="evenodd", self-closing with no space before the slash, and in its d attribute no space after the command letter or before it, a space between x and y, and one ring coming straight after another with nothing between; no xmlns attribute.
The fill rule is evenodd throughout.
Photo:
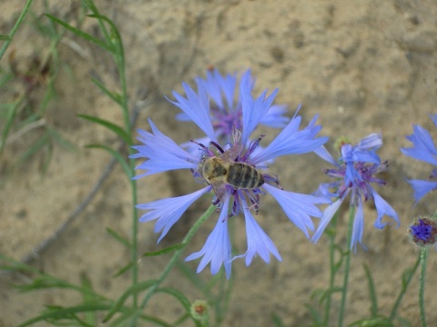
<svg viewBox="0 0 437 327"><path fill-rule="evenodd" d="M22 1L1 3L2 34L12 28L23 5ZM114 20L123 37L130 103L142 108L138 127L148 128L147 117L152 117L175 140L183 142L198 136L189 124L173 120L178 110L164 96L171 96L172 90L180 93L182 81L191 83L195 76L205 76L208 66L213 65L223 74L241 74L250 68L257 78L255 94L279 87L276 104L289 104L290 116L298 104L302 104L300 113L305 122L320 114L321 134L330 136L329 147L340 135L359 141L367 134L381 132L384 146L380 155L391 166L383 174L390 185L378 191L400 214L401 228L374 229L376 212L371 205L366 206L363 242L368 251L360 249L352 258L346 322L360 319L370 310L362 263L367 263L373 272L381 313L389 314L399 292L401 272L412 266L418 254L406 236L408 224L413 216L435 210L435 194L413 207L412 190L404 182L404 176L425 178L431 167L406 158L399 151L401 146L408 145L404 136L412 133L413 123L422 124L437 137L437 130L428 118L428 114L436 113L437 105L435 0L112 0L97 1L97 6L103 15ZM72 24L78 15L77 8L76 0L50 3L52 14ZM32 12L36 17L46 13L41 1L35 2ZM46 51L46 40L36 32L30 17L9 49L15 51L20 65ZM96 22L87 19L84 28L93 34ZM76 144L77 151L57 146L48 172L42 176L41 155L18 171L11 170L16 154L38 137L37 129L6 147L0 158L0 253L17 260L32 253L65 222L110 161L108 154L84 146L118 144L113 134L76 117L95 114L113 122L121 121L118 108L90 81L92 76L98 76L107 85L116 86L117 76L109 56L68 33L58 48L61 60L72 74L61 70L56 80L58 97L46 114L46 122ZM6 67L7 61L4 59L1 64ZM19 92L20 86L16 87ZM5 91L3 94L10 95ZM265 133L267 144L276 132ZM281 172L281 183L288 190L311 193L319 183L328 180L320 172L323 167L326 164L316 155L308 154L279 160L272 170ZM139 202L192 192L198 184L191 181L184 173L142 179L138 183ZM158 247L153 223L141 224L140 253L179 242L207 206L208 198L196 203ZM239 235L244 234L244 226L241 217L235 220L238 233L234 246L241 253L245 238ZM249 268L242 261L234 262L235 288L224 325L269 326L271 312L278 314L287 326L306 325L310 318L303 304L310 302L311 291L328 283L327 239L322 237L318 244L311 244L272 199L266 198L258 221L276 243L283 262L273 260L267 265L257 259ZM128 276L113 279L111 275L127 263L129 253L107 235L106 228L129 235L130 222L127 182L116 168L85 213L32 263L71 282L78 282L85 272L98 291L116 298L129 279ZM189 253L200 249L214 223L215 219L211 219L202 227ZM344 242L346 213L339 225ZM437 305L436 258L437 253L432 251L427 275L429 288L425 293L429 326L437 325L437 312L433 310ZM158 276L167 260L167 257L143 260L141 278ZM192 263L192 268L196 267L197 263ZM201 277L210 279L208 269ZM42 310L45 304L77 301L67 292L17 293L9 286L10 282L28 281L24 276L0 277L0 326L15 326ZM167 284L178 285L193 301L198 296L188 282L180 282L177 272L170 275ZM417 285L416 276L401 304L401 314L413 326L419 324ZM166 299L157 296L147 312L177 317L178 305L169 304Z"/></svg>

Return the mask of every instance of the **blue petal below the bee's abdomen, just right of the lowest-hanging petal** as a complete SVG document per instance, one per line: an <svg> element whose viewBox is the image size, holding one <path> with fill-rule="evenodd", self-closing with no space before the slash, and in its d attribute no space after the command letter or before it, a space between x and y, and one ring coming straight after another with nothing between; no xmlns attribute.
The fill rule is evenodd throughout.
<svg viewBox="0 0 437 327"><path fill-rule="evenodd" d="M282 261L275 244L270 240L269 235L262 230L255 218L253 218L245 202L243 207L248 239L248 251L245 254L246 265L249 266L256 254L259 254L266 263L270 261L269 253L273 254L279 262Z"/></svg>

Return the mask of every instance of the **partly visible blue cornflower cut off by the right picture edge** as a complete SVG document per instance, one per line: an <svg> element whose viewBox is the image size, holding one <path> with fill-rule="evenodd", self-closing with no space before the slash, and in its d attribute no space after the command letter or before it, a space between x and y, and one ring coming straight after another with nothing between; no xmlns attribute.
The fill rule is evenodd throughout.
<svg viewBox="0 0 437 327"><path fill-rule="evenodd" d="M430 116L432 122L437 125L437 114ZM411 148L401 148L401 153L411 156L414 159L421 160L425 163L437 165L437 149L432 141L431 134L422 126L413 124L413 132L406 136L406 139L412 142ZM433 169L430 179L437 177L437 169ZM423 180L407 180L414 190L414 199L416 203L429 193L437 189L437 182Z"/></svg>

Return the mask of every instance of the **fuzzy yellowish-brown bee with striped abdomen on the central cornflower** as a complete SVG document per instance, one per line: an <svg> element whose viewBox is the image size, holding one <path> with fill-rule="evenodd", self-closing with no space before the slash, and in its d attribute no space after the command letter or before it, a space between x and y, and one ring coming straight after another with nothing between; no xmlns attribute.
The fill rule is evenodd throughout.
<svg viewBox="0 0 437 327"><path fill-rule="evenodd" d="M223 200L227 184L236 190L251 190L264 183L264 177L257 168L249 163L235 162L242 149L242 145L234 145L217 156L205 156L198 163L198 173L212 186L219 202Z"/></svg>

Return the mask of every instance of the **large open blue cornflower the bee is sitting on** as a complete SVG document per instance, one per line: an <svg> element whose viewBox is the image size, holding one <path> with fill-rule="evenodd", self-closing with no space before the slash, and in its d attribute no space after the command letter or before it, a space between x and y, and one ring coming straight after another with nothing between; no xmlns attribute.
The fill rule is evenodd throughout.
<svg viewBox="0 0 437 327"><path fill-rule="evenodd" d="M254 102L250 103L254 105ZM261 104L267 106L269 101L266 103L261 102ZM260 105L259 110L263 110L263 105ZM255 124L249 124L248 127L244 124L245 120L243 120L242 128L247 134L250 134L263 117L256 114L254 110L249 111L249 113L254 114L249 117L248 121L250 123L255 121ZM207 145L209 144L205 145L195 142L198 144L201 156L189 153L181 148L168 136L162 134L158 127L149 120L152 133L138 130L140 135L138 140L142 145L134 146L138 153L132 155L133 158L147 159L146 162L137 166L137 169L145 170L146 173L138 174L135 179L169 170L188 169L193 174L194 179L203 180L208 185L195 193L161 199L152 203L138 204L137 208L147 210L147 213L141 216L140 222L157 220L155 232L162 231L158 238L159 242L168 233L173 224L178 222L178 219L185 213L191 203L194 203L200 196L214 188L215 196L213 203L217 205L218 211L220 211L219 219L203 248L198 253L189 255L186 260L189 261L202 257L198 265L198 272L202 271L208 263L210 263L212 273L219 272L221 265L224 265L229 277L232 257L228 219L242 211L246 220L248 250L238 257L244 256L246 264L249 265L253 257L259 254L266 263L269 263L269 253L271 253L280 261L281 258L275 245L250 213L251 209L258 213L260 195L270 193L278 201L290 221L295 223L307 237L309 237L308 229L314 230L310 216L321 216L321 212L315 204L328 203L328 201L312 195L283 191L279 186L278 177L269 173L260 173L263 183L253 184L250 187L246 185L247 188L244 188L234 187L229 183L218 183L215 180L205 178L202 175L203 171L199 168L204 167L205 160L220 158L220 160L228 164L238 163L245 166L245 169L250 172L252 172L252 169L259 171L260 169L267 169L262 163L278 156L304 154L313 151L328 140L327 137L316 137L321 129L320 125L316 125L316 120L317 116L305 128L299 130L300 116L293 117L275 140L262 150L258 149L262 136L255 141L247 143L242 141L242 134L239 133L239 130L234 129L232 144L225 144L225 146L221 147L217 142L211 141L211 146L208 147ZM211 120L208 116L204 116L204 119L198 119L197 123L198 127L208 137L214 139L215 134L213 134ZM246 146L246 144L249 144L249 146ZM248 166L252 168L248 168ZM259 177L260 180L261 177Z"/></svg>

